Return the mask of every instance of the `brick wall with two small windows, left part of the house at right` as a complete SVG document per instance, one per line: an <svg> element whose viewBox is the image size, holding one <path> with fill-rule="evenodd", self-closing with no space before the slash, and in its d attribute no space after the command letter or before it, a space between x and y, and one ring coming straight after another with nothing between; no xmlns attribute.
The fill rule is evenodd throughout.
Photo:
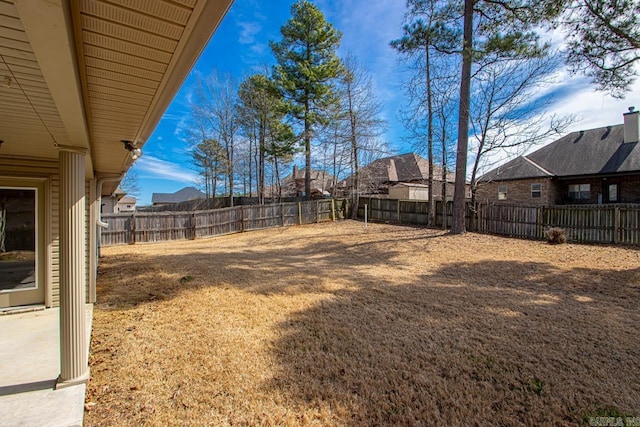
<svg viewBox="0 0 640 427"><path fill-rule="evenodd" d="M531 184L540 184L541 194L539 198L531 197ZM492 181L478 183L476 201L480 203L504 203L545 206L555 204L558 191L554 181L549 178L521 179L514 181ZM498 190L501 186L507 187L507 197L498 199Z"/></svg>

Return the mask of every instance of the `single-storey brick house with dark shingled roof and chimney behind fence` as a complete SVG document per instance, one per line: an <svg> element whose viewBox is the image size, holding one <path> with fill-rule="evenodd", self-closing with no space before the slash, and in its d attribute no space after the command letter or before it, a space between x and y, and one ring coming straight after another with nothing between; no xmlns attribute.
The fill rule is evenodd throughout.
<svg viewBox="0 0 640 427"><path fill-rule="evenodd" d="M624 124L572 132L484 174L478 202L640 203L640 112Z"/></svg>

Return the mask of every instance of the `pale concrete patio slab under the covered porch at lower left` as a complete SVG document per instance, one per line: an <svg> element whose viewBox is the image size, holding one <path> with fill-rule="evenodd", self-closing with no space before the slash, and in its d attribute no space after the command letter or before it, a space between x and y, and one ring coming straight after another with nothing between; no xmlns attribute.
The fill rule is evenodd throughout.
<svg viewBox="0 0 640 427"><path fill-rule="evenodd" d="M87 304L85 313L89 342L93 305ZM0 426L81 426L85 384L54 389L60 373L59 310L0 316L0 343Z"/></svg>

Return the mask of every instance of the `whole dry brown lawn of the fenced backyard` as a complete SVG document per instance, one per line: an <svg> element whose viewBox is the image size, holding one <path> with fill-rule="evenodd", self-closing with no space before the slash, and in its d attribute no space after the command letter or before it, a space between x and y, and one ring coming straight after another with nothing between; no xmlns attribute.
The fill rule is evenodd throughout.
<svg viewBox="0 0 640 427"><path fill-rule="evenodd" d="M640 416L640 251L346 221L104 249L87 425Z"/></svg>

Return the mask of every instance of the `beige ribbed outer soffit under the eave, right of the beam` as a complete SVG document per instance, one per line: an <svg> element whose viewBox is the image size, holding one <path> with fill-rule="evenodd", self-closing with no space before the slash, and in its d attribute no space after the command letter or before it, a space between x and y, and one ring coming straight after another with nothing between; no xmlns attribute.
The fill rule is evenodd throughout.
<svg viewBox="0 0 640 427"><path fill-rule="evenodd" d="M72 2L96 171L129 167L120 141L146 141L231 3Z"/></svg>

